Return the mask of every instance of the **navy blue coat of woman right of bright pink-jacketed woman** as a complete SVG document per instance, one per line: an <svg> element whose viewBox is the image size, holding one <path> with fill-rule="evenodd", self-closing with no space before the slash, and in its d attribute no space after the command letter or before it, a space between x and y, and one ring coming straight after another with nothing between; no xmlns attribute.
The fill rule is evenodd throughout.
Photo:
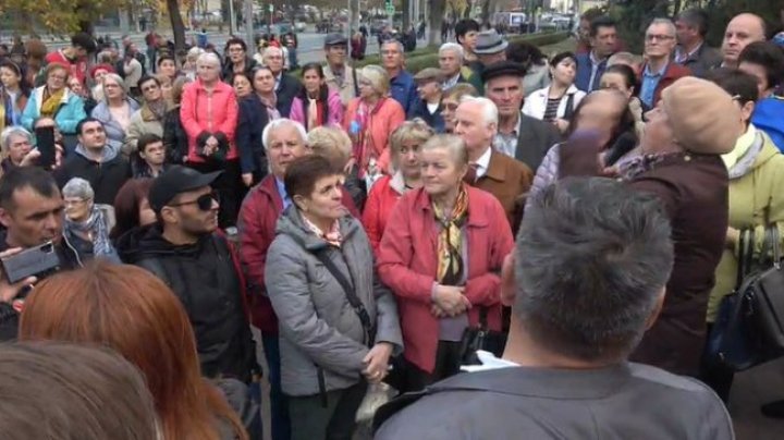
<svg viewBox="0 0 784 440"><path fill-rule="evenodd" d="M267 174L267 155L261 134L268 122L267 107L256 94L240 100L234 142L240 151L240 167L243 174L257 173L261 178Z"/></svg>

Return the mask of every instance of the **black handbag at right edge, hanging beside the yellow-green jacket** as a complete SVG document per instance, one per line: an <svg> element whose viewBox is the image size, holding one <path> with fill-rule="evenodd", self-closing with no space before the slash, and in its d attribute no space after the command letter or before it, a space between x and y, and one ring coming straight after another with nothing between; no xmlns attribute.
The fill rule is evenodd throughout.
<svg viewBox="0 0 784 440"><path fill-rule="evenodd" d="M754 246L754 231L743 231L736 288L722 300L707 346L709 362L735 371L784 356L784 270L779 229L765 229L757 269Z"/></svg>

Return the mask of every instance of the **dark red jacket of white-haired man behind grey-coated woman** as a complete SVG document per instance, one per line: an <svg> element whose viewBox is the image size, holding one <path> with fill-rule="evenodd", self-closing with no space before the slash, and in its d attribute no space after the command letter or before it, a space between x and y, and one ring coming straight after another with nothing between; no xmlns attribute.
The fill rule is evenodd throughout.
<svg viewBox="0 0 784 440"><path fill-rule="evenodd" d="M359 217L354 201L347 192L343 192L343 205L352 216ZM274 175L268 174L256 185L243 201L240 209L240 261L248 285L250 322L261 329L264 334L278 334L278 318L272 303L267 297L265 266L267 249L275 237L278 217L283 211L283 199L278 193Z"/></svg>

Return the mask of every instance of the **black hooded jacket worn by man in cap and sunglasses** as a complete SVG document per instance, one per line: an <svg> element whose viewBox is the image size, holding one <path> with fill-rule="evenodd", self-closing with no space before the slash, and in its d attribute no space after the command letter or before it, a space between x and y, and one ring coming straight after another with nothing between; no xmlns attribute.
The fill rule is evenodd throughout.
<svg viewBox="0 0 784 440"><path fill-rule="evenodd" d="M127 234L118 241L121 257L152 272L180 298L196 334L203 375L247 382L256 354L244 281L228 241L213 233L174 245L157 224Z"/></svg>

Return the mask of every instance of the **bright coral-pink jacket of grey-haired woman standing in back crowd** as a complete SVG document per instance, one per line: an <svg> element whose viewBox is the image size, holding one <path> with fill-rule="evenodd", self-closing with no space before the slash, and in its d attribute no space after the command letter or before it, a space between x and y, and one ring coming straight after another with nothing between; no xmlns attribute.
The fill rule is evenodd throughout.
<svg viewBox="0 0 784 440"><path fill-rule="evenodd" d="M237 159L234 133L237 123L237 101L234 89L219 81L211 94L199 80L185 86L180 107L180 119L188 137L188 161L204 162L196 152L196 137L203 132L221 132L229 138L228 160Z"/></svg>

